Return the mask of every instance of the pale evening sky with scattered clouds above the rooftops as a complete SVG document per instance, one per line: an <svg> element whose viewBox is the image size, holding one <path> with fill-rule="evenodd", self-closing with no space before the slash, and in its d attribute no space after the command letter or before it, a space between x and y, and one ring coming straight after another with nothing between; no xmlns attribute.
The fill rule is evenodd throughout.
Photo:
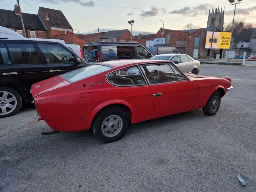
<svg viewBox="0 0 256 192"><path fill-rule="evenodd" d="M206 3L205 3L206 2ZM13 10L16 0L0 0L0 8ZM206 27L209 8L225 6L224 23L233 20L235 5L228 0L20 0L21 12L37 14L38 7L61 10L73 29L82 34L129 29L132 34L156 33L159 28L182 30L187 23ZM256 0L242 0L235 18L245 18L256 27ZM74 30L74 32L77 32Z"/></svg>

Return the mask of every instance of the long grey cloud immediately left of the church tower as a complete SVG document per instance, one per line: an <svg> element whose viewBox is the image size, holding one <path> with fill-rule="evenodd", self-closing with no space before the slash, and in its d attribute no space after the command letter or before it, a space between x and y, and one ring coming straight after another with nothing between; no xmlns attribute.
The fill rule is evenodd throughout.
<svg viewBox="0 0 256 192"><path fill-rule="evenodd" d="M196 16L199 14L208 14L208 10L211 7L210 4L204 3L199 4L195 7L185 6L180 9L175 9L173 11L168 12L169 14L181 14L184 16ZM207 10L207 11L206 11Z"/></svg>

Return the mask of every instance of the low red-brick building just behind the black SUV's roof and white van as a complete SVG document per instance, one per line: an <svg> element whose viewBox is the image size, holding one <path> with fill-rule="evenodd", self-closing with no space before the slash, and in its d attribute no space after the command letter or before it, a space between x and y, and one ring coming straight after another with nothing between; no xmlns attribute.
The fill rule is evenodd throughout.
<svg viewBox="0 0 256 192"><path fill-rule="evenodd" d="M65 43L77 44L81 47L81 49L84 44L90 43L89 41L86 41L86 40L82 39L81 37L76 36L74 33L54 35L54 36L52 36L52 39L62 39L65 41Z"/></svg>

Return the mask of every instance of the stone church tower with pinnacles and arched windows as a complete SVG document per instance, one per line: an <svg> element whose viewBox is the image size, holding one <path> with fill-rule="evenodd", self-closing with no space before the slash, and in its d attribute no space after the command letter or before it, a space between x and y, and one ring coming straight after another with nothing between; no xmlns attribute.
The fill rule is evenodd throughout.
<svg viewBox="0 0 256 192"><path fill-rule="evenodd" d="M224 25L224 12L225 12L225 7L222 11L222 7L220 9L220 6L218 9L216 8L211 8L209 9L209 15L208 15L208 21L207 21L207 27L215 27L223 31L223 25Z"/></svg>

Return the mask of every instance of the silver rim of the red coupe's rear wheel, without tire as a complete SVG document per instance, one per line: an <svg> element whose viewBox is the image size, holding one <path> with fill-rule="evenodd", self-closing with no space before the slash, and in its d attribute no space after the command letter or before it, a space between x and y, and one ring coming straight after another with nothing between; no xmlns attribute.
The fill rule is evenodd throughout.
<svg viewBox="0 0 256 192"><path fill-rule="evenodd" d="M104 119L101 131L107 137L114 137L121 132L123 120L118 115L110 115Z"/></svg>

